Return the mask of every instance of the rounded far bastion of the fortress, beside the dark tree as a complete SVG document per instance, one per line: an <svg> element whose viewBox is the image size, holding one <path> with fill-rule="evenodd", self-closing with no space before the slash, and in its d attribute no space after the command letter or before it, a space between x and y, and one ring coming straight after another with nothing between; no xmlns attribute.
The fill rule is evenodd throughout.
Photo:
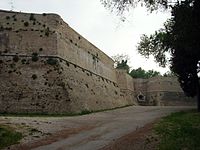
<svg viewBox="0 0 200 150"><path fill-rule="evenodd" d="M195 98L186 97L177 78L154 77L147 82L147 99L155 105L194 105Z"/></svg>

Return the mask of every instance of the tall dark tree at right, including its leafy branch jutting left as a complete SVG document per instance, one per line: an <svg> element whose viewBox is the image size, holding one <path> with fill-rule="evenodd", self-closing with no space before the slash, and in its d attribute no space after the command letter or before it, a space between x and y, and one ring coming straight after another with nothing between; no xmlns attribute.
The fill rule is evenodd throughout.
<svg viewBox="0 0 200 150"><path fill-rule="evenodd" d="M151 36L144 35L138 46L138 52L146 57L153 55L162 66L166 64L166 55L171 70L178 76L180 85L187 96L197 96L200 111L200 2L185 0L172 8L172 18L165 28Z"/></svg>

